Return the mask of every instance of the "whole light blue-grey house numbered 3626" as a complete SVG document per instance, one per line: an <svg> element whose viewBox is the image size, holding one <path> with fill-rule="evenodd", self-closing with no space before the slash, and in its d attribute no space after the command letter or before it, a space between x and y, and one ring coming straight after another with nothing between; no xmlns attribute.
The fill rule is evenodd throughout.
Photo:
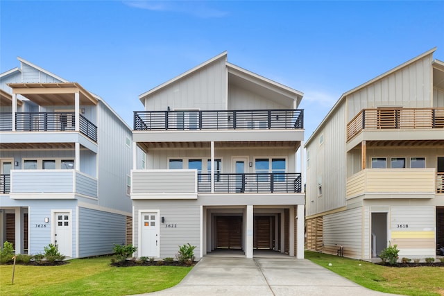
<svg viewBox="0 0 444 296"><path fill-rule="evenodd" d="M131 129L77 82L18 60L0 74L1 243L76 258L131 242Z"/></svg>

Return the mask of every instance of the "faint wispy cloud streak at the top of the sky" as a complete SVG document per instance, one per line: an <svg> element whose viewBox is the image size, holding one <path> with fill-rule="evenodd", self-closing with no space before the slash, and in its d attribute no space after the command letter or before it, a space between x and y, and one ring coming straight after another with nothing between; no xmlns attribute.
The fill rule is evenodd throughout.
<svg viewBox="0 0 444 296"><path fill-rule="evenodd" d="M153 11L170 11L181 12L187 15L194 15L201 18L225 17L228 12L210 8L207 1L123 1L124 4L133 8L153 10Z"/></svg>

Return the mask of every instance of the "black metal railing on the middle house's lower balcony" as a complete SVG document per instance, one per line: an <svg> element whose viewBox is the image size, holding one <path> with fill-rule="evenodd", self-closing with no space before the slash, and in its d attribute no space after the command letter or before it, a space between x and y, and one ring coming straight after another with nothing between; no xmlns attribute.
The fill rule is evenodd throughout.
<svg viewBox="0 0 444 296"><path fill-rule="evenodd" d="M211 192L211 175L198 174L198 192ZM217 173L214 192L222 193L299 193L300 173Z"/></svg>

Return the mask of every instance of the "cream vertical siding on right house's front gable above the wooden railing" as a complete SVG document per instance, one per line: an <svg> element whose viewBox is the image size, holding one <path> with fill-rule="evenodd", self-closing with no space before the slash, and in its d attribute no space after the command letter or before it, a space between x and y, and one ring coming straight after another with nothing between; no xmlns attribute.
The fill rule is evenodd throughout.
<svg viewBox="0 0 444 296"><path fill-rule="evenodd" d="M432 107L432 54L347 96L348 121L365 108Z"/></svg>

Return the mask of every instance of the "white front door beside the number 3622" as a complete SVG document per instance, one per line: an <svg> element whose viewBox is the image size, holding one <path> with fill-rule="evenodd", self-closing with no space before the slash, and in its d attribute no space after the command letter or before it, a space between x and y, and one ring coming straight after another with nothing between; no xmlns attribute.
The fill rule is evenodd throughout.
<svg viewBox="0 0 444 296"><path fill-rule="evenodd" d="M140 256L159 256L159 215L157 212L143 212L141 215Z"/></svg>

